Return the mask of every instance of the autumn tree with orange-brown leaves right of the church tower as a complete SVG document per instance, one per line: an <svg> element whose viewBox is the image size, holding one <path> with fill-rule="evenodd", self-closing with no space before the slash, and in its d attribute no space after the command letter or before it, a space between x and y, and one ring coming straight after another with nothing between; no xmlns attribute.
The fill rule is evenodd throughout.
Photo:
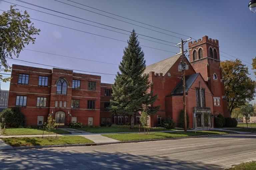
<svg viewBox="0 0 256 170"><path fill-rule="evenodd" d="M254 99L256 82L249 77L248 67L238 59L222 61L220 66L230 117L233 109Z"/></svg>

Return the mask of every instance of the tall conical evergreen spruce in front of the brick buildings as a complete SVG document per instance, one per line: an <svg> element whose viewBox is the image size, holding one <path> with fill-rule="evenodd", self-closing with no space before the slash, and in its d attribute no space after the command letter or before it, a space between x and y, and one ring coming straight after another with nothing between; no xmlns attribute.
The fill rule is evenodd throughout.
<svg viewBox="0 0 256 170"><path fill-rule="evenodd" d="M113 100L110 100L108 107L112 116L131 116L131 129L134 129L136 113L144 110L148 115L153 115L161 107L152 106L158 96L153 96L153 91L147 93L150 87L149 76L142 76L146 60L137 37L135 30L132 30L119 65L120 72L117 72L115 84L112 85Z"/></svg>

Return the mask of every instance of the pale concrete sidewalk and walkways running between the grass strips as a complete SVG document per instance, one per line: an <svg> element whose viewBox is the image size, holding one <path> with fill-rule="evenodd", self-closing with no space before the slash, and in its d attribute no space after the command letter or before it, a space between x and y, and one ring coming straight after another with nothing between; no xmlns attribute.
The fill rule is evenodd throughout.
<svg viewBox="0 0 256 170"><path fill-rule="evenodd" d="M9 150L9 149L25 149L25 148L43 148L43 147L64 147L64 146L87 146L87 145L101 145L101 144L111 144L111 143L124 143L120 142L119 140L111 139L105 136L102 136L101 134L111 134L111 133L90 133L90 132L85 132L82 130L77 130L73 128L61 128L62 130L71 132L71 134L58 134L58 136L71 136L71 135L79 135L83 136L87 139L92 140L94 143L92 144L70 144L70 145L52 145L52 146L31 146L31 147L12 147L10 145L7 145L2 139L0 139L0 150ZM203 129L196 129L196 131L200 131ZM204 129L206 130L206 129ZM211 130L225 130L225 131L231 131L231 130L226 130L226 129L215 129L212 128ZM183 130L180 130L183 131ZM188 131L195 131L193 130L188 130ZM177 131L161 131L161 132L177 132ZM239 132L239 131L232 131L234 133L248 133L248 132ZM118 133L138 133L138 132L118 132ZM250 133L250 132L249 132ZM41 137L42 135L0 135L0 138L10 138L10 137L33 137L33 136L38 136ZM45 134L44 136L48 136L48 134ZM56 134L49 135L49 136L56 136ZM200 136L197 136L200 137ZM203 137L203 136L201 136ZM163 140L163 139L153 139L153 140ZM149 141L149 140L145 140ZM131 142L131 141L129 141Z"/></svg>

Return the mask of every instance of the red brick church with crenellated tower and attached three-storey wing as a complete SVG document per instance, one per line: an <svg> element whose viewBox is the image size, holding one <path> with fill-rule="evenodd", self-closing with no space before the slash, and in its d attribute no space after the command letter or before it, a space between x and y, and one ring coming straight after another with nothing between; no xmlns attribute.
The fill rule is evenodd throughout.
<svg viewBox="0 0 256 170"><path fill-rule="evenodd" d="M220 69L218 40L208 39L189 42L189 69L185 71L186 110L189 127L202 127L204 114L213 117L219 113L228 116L227 100ZM149 74L151 87L158 94L155 105L161 105L157 114L149 117L149 125L161 125L167 115L179 126L183 109L183 88L178 65L181 54L146 67L143 75ZM8 108L18 106L26 116L26 126L42 125L49 115L57 124L82 122L83 125L99 126L105 120L112 124L128 124L129 116L113 116L106 107L111 97L111 84L101 83L101 76L75 73L66 69L44 69L13 65L9 90ZM197 116L194 119L194 113ZM140 114L135 119L139 122Z"/></svg>

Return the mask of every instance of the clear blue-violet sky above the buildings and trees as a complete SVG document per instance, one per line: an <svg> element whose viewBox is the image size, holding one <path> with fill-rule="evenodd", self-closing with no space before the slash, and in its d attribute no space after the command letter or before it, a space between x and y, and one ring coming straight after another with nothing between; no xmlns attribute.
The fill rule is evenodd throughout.
<svg viewBox="0 0 256 170"><path fill-rule="evenodd" d="M11 4L17 4L16 8L27 10L34 26L41 29L35 44L27 45L19 58L14 56L22 61L7 59L10 66L61 67L100 75L101 82L113 83L130 32L135 29L147 65L179 53L175 43L180 43L181 38L192 37L194 41L207 35L219 40L222 61L242 60L256 80L251 70L256 56L256 14L249 10L248 3L249 0L0 0L0 10L7 11ZM2 82L1 88L9 90L9 83Z"/></svg>

